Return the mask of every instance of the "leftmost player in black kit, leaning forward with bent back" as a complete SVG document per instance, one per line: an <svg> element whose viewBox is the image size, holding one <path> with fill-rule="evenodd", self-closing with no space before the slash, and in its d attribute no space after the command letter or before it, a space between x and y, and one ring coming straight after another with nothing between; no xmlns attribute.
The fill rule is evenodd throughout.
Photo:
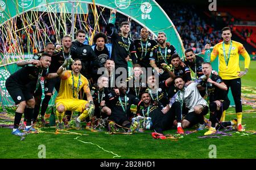
<svg viewBox="0 0 256 170"><path fill-rule="evenodd" d="M18 129L22 114L26 112L27 124L24 131L36 131L31 125L32 114L35 107L34 92L40 86L40 80L43 77L54 78L56 73L48 74L47 68L51 65L51 56L43 53L40 60L31 59L30 61L22 61L20 66L27 65L19 69L7 78L5 86L18 108L14 117L14 135L23 136Z"/></svg>

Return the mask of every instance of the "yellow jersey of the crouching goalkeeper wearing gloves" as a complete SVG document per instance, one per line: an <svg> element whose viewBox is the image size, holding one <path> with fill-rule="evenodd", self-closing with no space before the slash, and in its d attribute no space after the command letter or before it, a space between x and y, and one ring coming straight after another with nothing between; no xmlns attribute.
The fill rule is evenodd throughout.
<svg viewBox="0 0 256 170"><path fill-rule="evenodd" d="M90 92L89 82L85 76L72 75L72 71L65 71L61 77L60 90L56 100L60 99L78 99L78 92L84 88L84 92Z"/></svg>

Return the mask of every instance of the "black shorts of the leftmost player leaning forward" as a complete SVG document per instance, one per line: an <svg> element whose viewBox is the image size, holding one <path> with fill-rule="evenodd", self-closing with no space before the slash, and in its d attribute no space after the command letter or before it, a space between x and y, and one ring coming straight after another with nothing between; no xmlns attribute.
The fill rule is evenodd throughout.
<svg viewBox="0 0 256 170"><path fill-rule="evenodd" d="M32 91L34 89L31 90L31 88L20 85L11 78L6 80L5 87L15 104L19 104L22 101L27 101L34 98L34 91Z"/></svg>

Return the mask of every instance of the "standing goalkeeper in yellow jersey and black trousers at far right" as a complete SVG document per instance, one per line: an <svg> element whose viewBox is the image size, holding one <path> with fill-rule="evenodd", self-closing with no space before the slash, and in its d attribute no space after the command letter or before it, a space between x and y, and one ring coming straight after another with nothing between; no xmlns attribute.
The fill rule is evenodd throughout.
<svg viewBox="0 0 256 170"><path fill-rule="evenodd" d="M217 56L219 59L219 75L226 86L231 89L237 113L237 130L244 131L242 128L242 103L241 103L241 77L246 75L249 65L250 56L240 42L231 40L232 33L229 27L222 28L223 42L216 44L210 54L210 62ZM210 45L206 44L205 49ZM245 58L245 70L240 71L239 54ZM227 91L228 92L228 91Z"/></svg>

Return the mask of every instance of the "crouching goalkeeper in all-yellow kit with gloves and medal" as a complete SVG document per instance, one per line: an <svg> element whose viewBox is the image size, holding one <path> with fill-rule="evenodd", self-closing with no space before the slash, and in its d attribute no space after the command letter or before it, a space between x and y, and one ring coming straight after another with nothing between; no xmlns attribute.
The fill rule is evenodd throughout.
<svg viewBox="0 0 256 170"><path fill-rule="evenodd" d="M72 70L64 70L69 64L71 64ZM77 111L81 112L80 116L76 118L76 129L81 129L80 122L84 121L86 117L90 118L94 114L93 97L90 94L90 88L88 80L80 73L82 69L80 59L67 58L62 66L57 70L57 74L61 78L60 90L56 97L56 115L58 118L58 124L56 129L64 129L64 122L62 121L65 111ZM84 93L87 100L80 100L78 97L81 88L84 89Z"/></svg>

